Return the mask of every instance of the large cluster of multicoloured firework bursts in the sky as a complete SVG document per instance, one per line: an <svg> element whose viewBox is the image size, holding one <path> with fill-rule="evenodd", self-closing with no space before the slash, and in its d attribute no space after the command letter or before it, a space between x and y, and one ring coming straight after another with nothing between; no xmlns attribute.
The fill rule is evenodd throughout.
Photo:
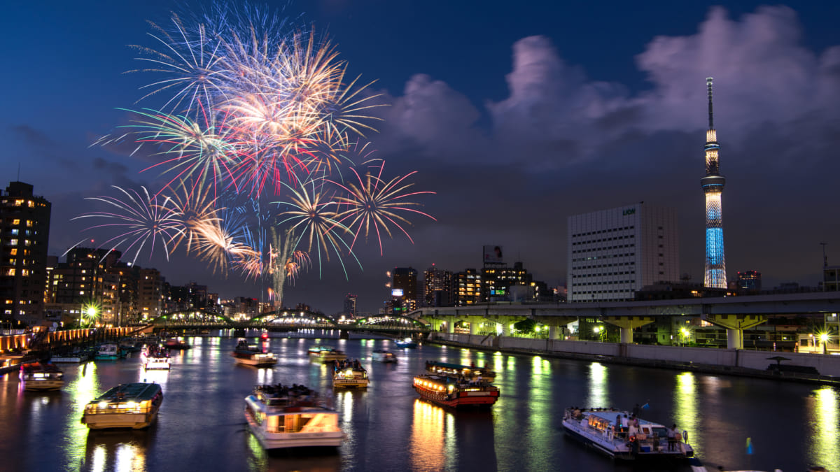
<svg viewBox="0 0 840 472"><path fill-rule="evenodd" d="M152 45L133 46L144 65L135 72L155 76L139 102L160 106L125 110L129 124L95 144L149 149L155 163L144 170L163 183L154 195L117 187L121 198L93 198L113 211L78 218L108 218L91 227L120 231L106 244L128 244L135 260L183 246L214 272L269 279L280 307L286 281L313 261L322 274L334 258L349 276L344 259L359 263L363 231L382 254L396 228L411 240L408 216L432 218L408 200L432 193L410 191L413 172L356 170L371 165L354 141L375 130L367 113L381 103L372 82L347 76L329 39L249 5L150 25Z"/></svg>

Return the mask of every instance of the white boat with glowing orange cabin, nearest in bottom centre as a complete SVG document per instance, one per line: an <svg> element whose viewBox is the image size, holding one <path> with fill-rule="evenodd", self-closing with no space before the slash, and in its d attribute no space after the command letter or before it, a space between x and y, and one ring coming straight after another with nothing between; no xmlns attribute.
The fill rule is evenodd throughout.
<svg viewBox="0 0 840 472"><path fill-rule="evenodd" d="M337 448L339 412L303 385L260 385L245 398L248 428L266 449Z"/></svg>

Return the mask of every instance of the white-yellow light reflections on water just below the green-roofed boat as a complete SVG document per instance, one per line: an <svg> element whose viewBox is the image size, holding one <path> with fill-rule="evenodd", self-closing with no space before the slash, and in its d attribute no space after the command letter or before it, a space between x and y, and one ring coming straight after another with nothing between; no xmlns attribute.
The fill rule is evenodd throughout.
<svg viewBox="0 0 840 472"><path fill-rule="evenodd" d="M85 457L79 469L84 472L139 472L147 469L146 456L157 428L144 430L90 431Z"/></svg>

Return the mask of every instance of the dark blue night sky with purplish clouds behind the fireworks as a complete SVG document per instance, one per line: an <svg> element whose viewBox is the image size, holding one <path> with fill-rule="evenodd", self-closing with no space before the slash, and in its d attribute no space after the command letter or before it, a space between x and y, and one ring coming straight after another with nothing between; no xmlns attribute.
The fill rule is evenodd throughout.
<svg viewBox="0 0 840 472"><path fill-rule="evenodd" d="M260 4L260 3L257 3ZM86 197L160 186L148 162L92 143L139 108L151 81L128 45L153 45L147 21L202 3L46 2L4 9L0 184L53 204L50 254L82 239ZM549 286L565 284L570 215L633 202L675 207L680 272L703 280L706 77L715 81L727 273L764 287L816 286L822 245L840 264L840 3L408 2L270 4L338 46L349 76L375 81L388 107L368 139L395 174L417 170L429 218L384 255L356 247L349 279L334 262L286 289L286 306L339 312L344 294L375 312L386 270L480 268L500 245ZM96 243L94 243L96 244ZM82 244L90 246L90 244ZM259 286L183 254L139 256L175 285L222 296Z"/></svg>

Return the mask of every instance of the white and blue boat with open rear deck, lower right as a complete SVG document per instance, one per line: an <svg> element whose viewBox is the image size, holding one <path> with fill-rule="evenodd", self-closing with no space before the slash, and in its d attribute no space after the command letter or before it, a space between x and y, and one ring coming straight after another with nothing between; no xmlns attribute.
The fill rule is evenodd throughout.
<svg viewBox="0 0 840 472"><path fill-rule="evenodd" d="M570 407L564 411L563 428L571 437L615 459L688 459L694 456L687 432L675 433L675 438L669 441L668 427L631 418L634 418L632 413L614 408Z"/></svg>

